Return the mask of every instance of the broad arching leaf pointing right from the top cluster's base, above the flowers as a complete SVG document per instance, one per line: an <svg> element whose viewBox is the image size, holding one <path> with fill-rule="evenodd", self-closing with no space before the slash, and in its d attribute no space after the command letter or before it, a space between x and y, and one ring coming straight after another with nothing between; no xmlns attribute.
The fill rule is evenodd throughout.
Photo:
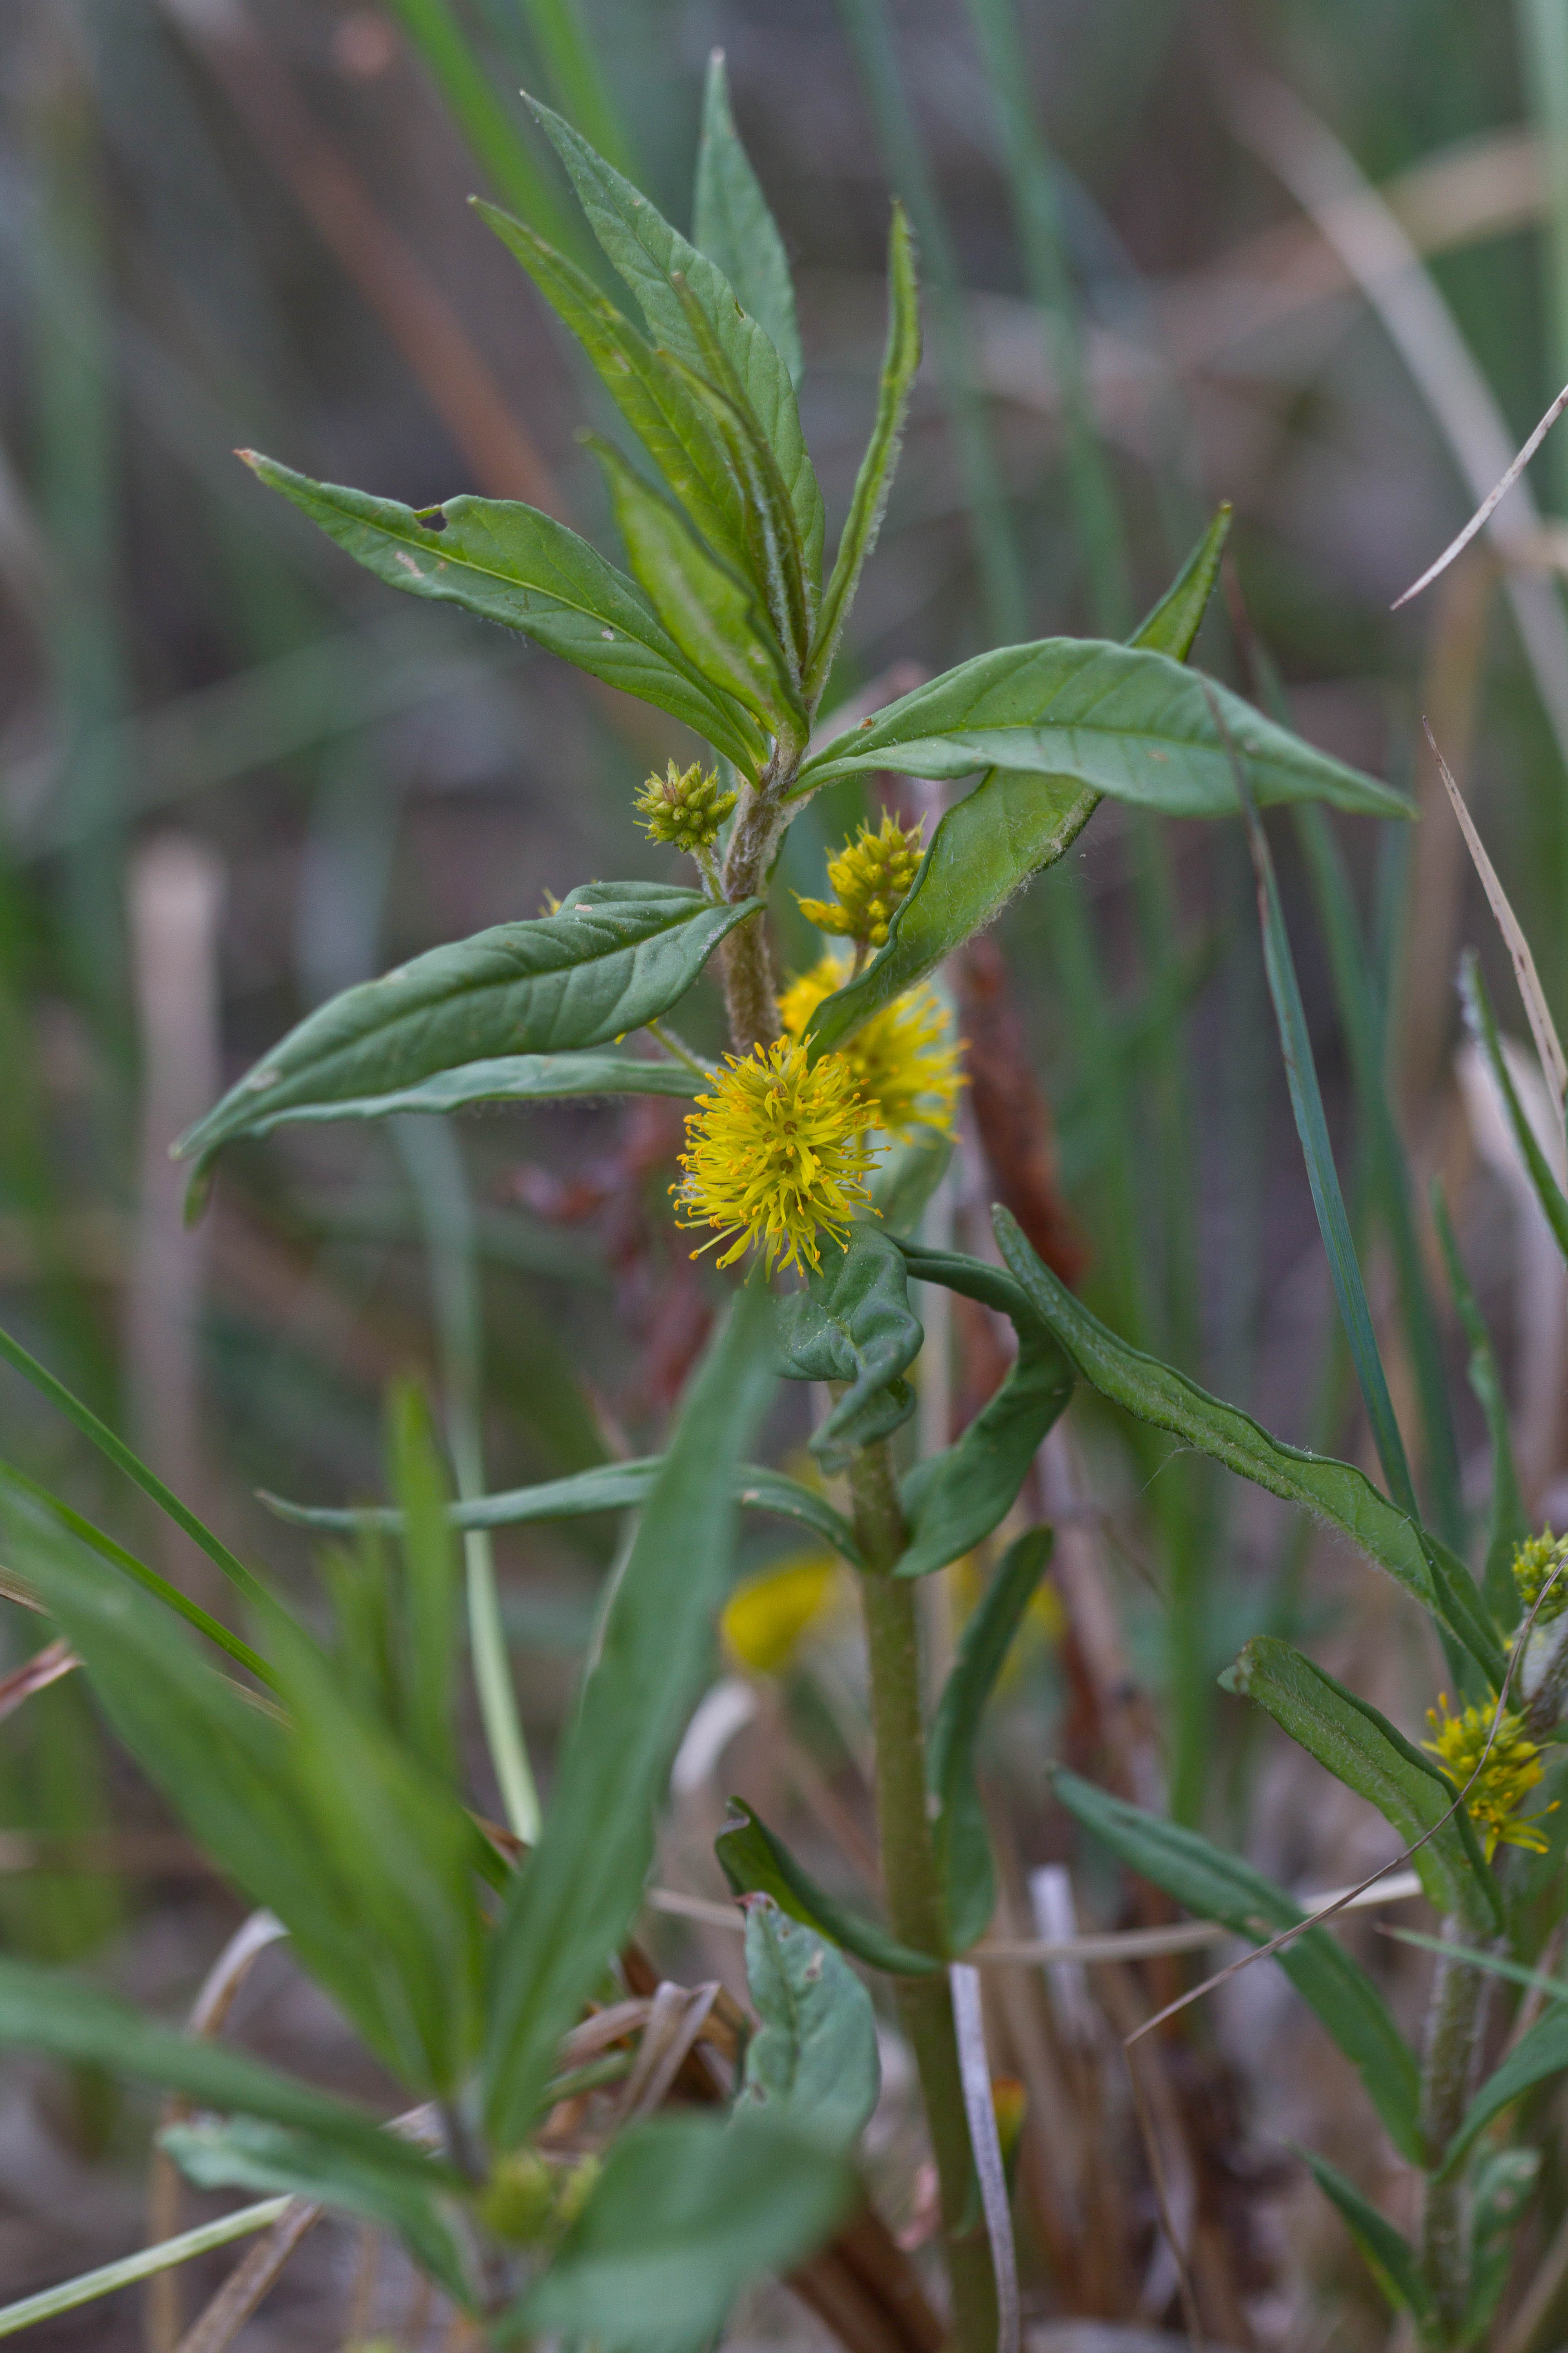
<svg viewBox="0 0 1568 2353"><path fill-rule="evenodd" d="M802 767L795 791L813 793L877 767L912 776L1011 767L1074 776L1164 816L1237 816L1237 781L1208 694L1258 802L1328 800L1363 816L1410 814L1394 786L1314 751L1171 654L1095 638L1041 638L976 654L886 704L870 727L825 744Z"/></svg>

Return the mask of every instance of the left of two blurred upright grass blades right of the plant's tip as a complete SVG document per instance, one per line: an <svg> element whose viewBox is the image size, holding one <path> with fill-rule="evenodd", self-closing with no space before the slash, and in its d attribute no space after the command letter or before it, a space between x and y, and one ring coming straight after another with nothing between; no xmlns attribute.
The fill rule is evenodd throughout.
<svg viewBox="0 0 1568 2353"><path fill-rule="evenodd" d="M914 224L936 360L969 501L969 527L980 565L990 633L994 640L1016 645L1025 631L1023 567L1006 511L1006 492L1001 487L985 400L971 365L971 325L952 231L898 71L886 0L839 0L839 14L860 66L882 162Z"/></svg>

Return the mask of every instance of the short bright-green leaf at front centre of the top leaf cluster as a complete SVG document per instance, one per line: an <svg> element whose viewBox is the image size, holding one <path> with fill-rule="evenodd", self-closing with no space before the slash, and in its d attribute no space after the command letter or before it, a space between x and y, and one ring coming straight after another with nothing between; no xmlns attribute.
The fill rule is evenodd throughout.
<svg viewBox="0 0 1568 2353"><path fill-rule="evenodd" d="M733 696L778 734L804 725L773 633L748 584L693 539L691 529L635 466L592 440L632 572L682 654L719 694Z"/></svg>

